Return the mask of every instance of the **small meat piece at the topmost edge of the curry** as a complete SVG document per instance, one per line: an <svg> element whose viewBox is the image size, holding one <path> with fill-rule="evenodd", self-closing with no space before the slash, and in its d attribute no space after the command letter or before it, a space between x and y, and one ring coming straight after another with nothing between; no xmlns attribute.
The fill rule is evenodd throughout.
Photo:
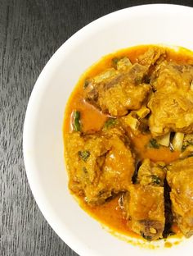
<svg viewBox="0 0 193 256"><path fill-rule="evenodd" d="M165 57L165 49L152 46L146 51L146 53L138 57L138 63L144 66L152 66L155 65L160 57Z"/></svg>

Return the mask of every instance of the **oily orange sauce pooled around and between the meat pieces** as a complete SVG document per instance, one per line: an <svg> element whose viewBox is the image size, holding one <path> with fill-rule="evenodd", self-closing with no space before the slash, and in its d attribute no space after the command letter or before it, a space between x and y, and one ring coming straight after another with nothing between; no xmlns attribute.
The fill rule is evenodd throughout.
<svg viewBox="0 0 193 256"><path fill-rule="evenodd" d="M72 112L78 110L81 112L81 123L83 125L83 132L91 130L101 130L108 116L101 113L96 107L93 107L87 103L83 98L83 85L87 78L91 78L106 68L112 66L113 57L128 57L131 62L137 62L137 56L145 53L150 46L137 46L134 48L128 48L120 50L117 53L112 53L105 57L102 57L99 62L91 66L88 71L86 71L80 78L78 84L76 85L74 92L71 94L69 102L65 110L65 121L63 127L63 134L65 140L65 134L72 131ZM173 49L168 49L168 60L173 60L177 63L193 63L193 57L188 54L188 50L180 48L179 51L174 51ZM178 152L171 152L166 147L160 147L159 149L148 149L146 144L150 140L150 135L133 135L130 132L130 139L132 141L132 148L135 149L139 158L150 158L154 162L164 161L165 163L173 162L179 157ZM124 235L130 235L134 237L141 238L141 235L137 235L131 231L129 223L127 224L123 211L119 207L119 197L116 196L110 201L98 205L90 206L84 202L83 197L79 197L80 206L92 217L96 218L99 222L105 224L105 226L110 227L114 231L123 233ZM173 226L175 233L179 234L177 226Z"/></svg>

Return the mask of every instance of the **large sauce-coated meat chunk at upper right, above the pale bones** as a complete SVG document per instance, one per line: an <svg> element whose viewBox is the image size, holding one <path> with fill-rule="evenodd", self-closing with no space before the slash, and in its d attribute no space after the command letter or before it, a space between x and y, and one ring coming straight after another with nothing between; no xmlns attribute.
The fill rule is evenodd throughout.
<svg viewBox="0 0 193 256"><path fill-rule="evenodd" d="M150 132L154 136L169 131L193 132L193 66L164 62L151 80L156 90L148 107Z"/></svg>

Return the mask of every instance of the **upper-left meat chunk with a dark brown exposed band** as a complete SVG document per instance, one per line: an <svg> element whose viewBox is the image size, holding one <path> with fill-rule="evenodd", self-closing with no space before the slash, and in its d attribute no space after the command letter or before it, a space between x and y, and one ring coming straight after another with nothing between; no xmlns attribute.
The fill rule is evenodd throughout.
<svg viewBox="0 0 193 256"><path fill-rule="evenodd" d="M139 109L151 89L143 81L148 71L146 66L130 65L125 57L118 64L119 70L110 68L96 75L84 89L84 98L89 103L114 117Z"/></svg>

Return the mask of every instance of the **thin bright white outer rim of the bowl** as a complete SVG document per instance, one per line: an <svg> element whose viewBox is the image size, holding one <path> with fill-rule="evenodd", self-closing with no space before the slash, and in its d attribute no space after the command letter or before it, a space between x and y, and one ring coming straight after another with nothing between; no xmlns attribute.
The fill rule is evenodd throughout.
<svg viewBox="0 0 193 256"><path fill-rule="evenodd" d="M59 226L57 225L57 220L52 218L52 214L47 213L47 206L44 204L44 197L42 193L42 190L40 187L38 187L37 192L37 181L34 178L34 171L31 167L29 157L27 155L27 150L29 148L29 122L31 114L34 112L34 103L37 95L39 94L39 89L43 83L43 76L47 75L50 70L52 70L52 66L55 64L57 58L61 55L63 51L68 51L71 48L71 44L73 44L77 38L80 36L83 36L84 34L88 33L89 30L91 30L93 27L96 27L98 25L101 25L104 21L109 21L114 16L119 16L123 12L134 13L136 11L144 9L146 11L147 9L150 10L157 10L158 8L172 8L175 10L184 10L184 11L193 11L192 7L187 7L183 5L177 5L177 4L168 4L168 3L154 3L154 4L144 4L144 5L138 5L133 7L127 7L120 9L118 11L110 12L109 14L106 14L105 16L101 16L100 18L96 19L95 21L90 22L88 25L83 26L82 29L78 30L76 33L74 33L72 36L70 36L69 39L65 41L61 45L60 48L56 50L56 52L52 55L52 57L49 59L47 64L43 67L43 70L40 72L40 75L38 75L38 79L35 82L34 88L31 92L31 95L29 97L29 103L26 109L25 113L25 121L23 126L23 156L24 156L24 162L25 162L25 171L27 175L27 179L29 182L29 187L32 191L32 194L34 195L34 199L38 205L38 208L40 209L41 213L43 214L43 217L47 220L48 224L52 227L52 229L56 232L56 234L65 242L66 245L70 246L71 249L73 249L77 254L80 255L91 255L91 251L87 250L85 245L83 243L80 243L79 240L76 238L74 234L71 234L70 232L66 231L65 234L61 232ZM108 53L106 53L108 54ZM92 255L98 255L93 252Z"/></svg>

